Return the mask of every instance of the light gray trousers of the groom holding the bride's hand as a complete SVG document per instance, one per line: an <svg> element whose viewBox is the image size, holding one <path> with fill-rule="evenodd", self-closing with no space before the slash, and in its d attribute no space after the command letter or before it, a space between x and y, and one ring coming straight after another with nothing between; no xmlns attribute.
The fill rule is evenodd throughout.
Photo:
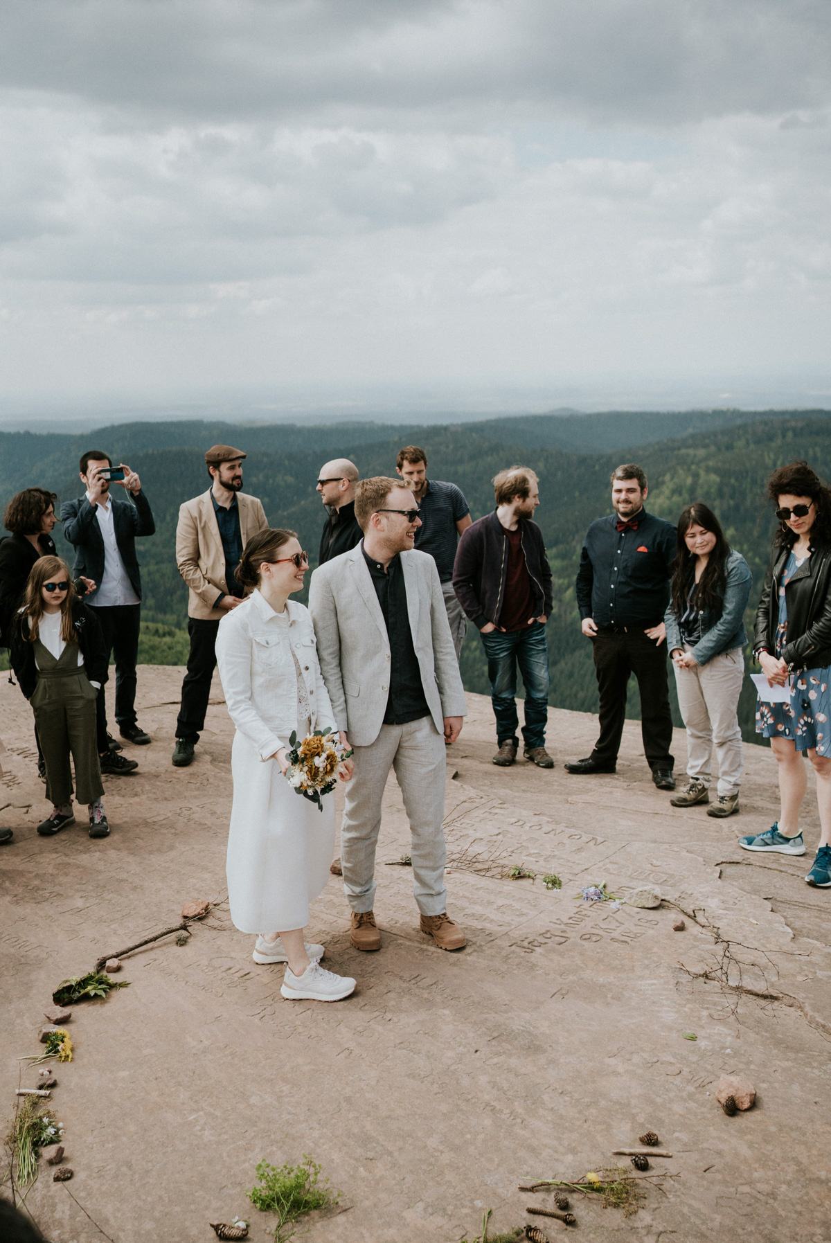
<svg viewBox="0 0 831 1243"><path fill-rule="evenodd" d="M355 773L347 786L340 824L343 888L353 911L375 902L375 845L381 828L381 798L395 771L410 820L412 890L422 915L442 915L445 889L445 740L432 717L407 725L383 725L369 747L355 747Z"/></svg>

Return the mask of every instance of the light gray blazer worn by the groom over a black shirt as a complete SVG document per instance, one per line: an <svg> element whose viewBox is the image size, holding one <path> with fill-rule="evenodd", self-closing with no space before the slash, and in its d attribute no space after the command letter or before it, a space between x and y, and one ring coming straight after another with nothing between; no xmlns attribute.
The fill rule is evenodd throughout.
<svg viewBox="0 0 831 1243"><path fill-rule="evenodd" d="M410 633L434 725L466 716L465 689L450 634L436 562L425 552L400 553ZM366 562L364 541L319 566L309 585L318 659L338 728L356 747L381 732L390 685L390 644Z"/></svg>

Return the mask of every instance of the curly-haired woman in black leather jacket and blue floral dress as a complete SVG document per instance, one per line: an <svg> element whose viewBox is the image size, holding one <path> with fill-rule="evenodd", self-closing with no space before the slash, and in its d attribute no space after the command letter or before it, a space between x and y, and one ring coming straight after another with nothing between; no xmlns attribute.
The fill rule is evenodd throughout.
<svg viewBox="0 0 831 1243"><path fill-rule="evenodd" d="M754 654L769 686L790 685L790 700L759 700L756 732L770 738L779 764L781 810L766 833L739 839L745 850L805 854L799 814L807 773L816 773L820 845L805 880L831 888L831 488L807 462L768 480L780 521L768 562ZM790 679L790 682L789 682Z"/></svg>

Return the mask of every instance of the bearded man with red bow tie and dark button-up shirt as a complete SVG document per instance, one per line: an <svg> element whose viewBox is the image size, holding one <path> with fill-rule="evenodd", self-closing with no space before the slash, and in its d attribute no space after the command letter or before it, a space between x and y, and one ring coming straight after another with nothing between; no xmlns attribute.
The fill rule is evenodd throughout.
<svg viewBox="0 0 831 1243"><path fill-rule="evenodd" d="M570 773L614 773L626 716L631 674L641 692L643 751L658 789L674 789L672 712L667 684L663 613L677 551L676 528L643 508L648 493L640 466L611 476L614 513L597 518L580 553L576 597L583 633L594 648L600 691L600 737Z"/></svg>

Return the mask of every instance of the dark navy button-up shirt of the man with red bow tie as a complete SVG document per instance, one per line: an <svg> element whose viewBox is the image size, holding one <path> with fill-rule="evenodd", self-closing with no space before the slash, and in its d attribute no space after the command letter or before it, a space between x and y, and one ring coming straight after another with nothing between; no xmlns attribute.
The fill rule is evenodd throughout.
<svg viewBox="0 0 831 1243"><path fill-rule="evenodd" d="M580 620L643 630L663 620L678 537L646 510L636 518L637 531L619 531L616 513L589 527L576 580Z"/></svg>

